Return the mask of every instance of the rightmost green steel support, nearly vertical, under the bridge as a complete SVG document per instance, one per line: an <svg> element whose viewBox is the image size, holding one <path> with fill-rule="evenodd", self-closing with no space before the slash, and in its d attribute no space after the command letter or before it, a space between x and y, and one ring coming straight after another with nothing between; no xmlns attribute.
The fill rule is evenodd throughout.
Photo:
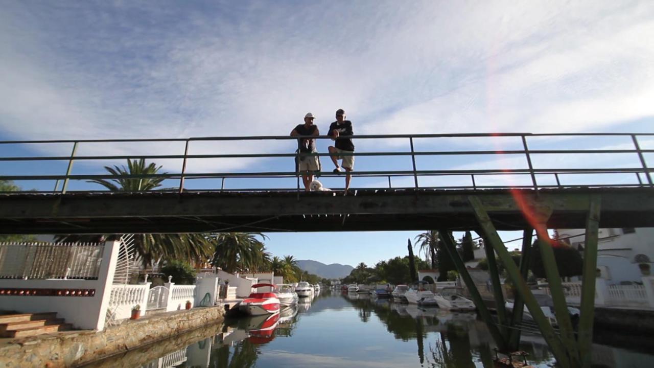
<svg viewBox="0 0 654 368"><path fill-rule="evenodd" d="M597 242L600 222L600 196L591 196L586 218L586 236L583 249L583 279L581 282L581 315L579 316L579 354L583 367L591 366L591 343L595 313L595 278L597 268Z"/></svg>

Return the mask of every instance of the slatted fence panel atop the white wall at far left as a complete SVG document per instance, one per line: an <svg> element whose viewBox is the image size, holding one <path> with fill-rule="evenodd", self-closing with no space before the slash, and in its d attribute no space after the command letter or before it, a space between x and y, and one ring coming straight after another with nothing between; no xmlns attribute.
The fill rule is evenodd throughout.
<svg viewBox="0 0 654 368"><path fill-rule="evenodd" d="M97 280L104 244L0 243L0 278Z"/></svg>

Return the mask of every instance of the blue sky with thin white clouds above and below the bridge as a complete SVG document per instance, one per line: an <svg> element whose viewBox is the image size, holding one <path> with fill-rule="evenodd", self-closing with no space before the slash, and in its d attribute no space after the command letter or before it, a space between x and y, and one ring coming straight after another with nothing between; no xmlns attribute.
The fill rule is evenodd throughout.
<svg viewBox="0 0 654 368"><path fill-rule="evenodd" d="M309 111L324 134L339 108L347 111L355 134L653 132L651 1L0 0L0 7L0 140L285 136ZM359 152L408 149L400 139L355 143ZM432 139L417 142L417 148L501 150L517 143ZM532 139L530 148L630 144L617 138ZM191 152L283 153L292 145L210 141L194 143ZM321 151L326 145L318 141ZM651 148L654 141L645 136L641 145ZM181 150L183 143L87 144L79 154ZM0 155L70 151L63 144L3 145ZM541 167L639 165L633 155L534 161ZM75 173L97 173L116 163L76 164ZM169 172L181 166L179 160L158 163ZM325 158L322 164L330 167ZM410 170L410 164L407 156L359 157L356 168ZM417 164L438 170L526 163L507 155L419 158ZM286 171L289 166L287 158L215 159L189 162L188 171ZM7 175L65 172L64 163L4 162L0 168ZM388 185L386 179L355 177L353 187L357 180L360 187ZM398 178L392 185L412 180ZM468 179L421 180L422 185L459 185ZM519 184L525 178L509 180ZM325 178L324 184L342 187L341 181ZM295 181L227 185L292 188ZM71 186L84 189L86 183ZM266 244L276 255L370 265L404 255L406 239L415 234L269 234Z"/></svg>

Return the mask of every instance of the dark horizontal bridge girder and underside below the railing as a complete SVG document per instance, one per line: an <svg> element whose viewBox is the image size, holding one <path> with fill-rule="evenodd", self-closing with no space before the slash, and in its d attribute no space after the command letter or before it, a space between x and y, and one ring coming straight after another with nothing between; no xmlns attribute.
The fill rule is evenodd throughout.
<svg viewBox="0 0 654 368"><path fill-rule="evenodd" d="M479 227L477 196L497 230L585 227L589 200L600 227L654 227L654 189L359 190L342 193L185 192L1 194L1 234L116 234L208 231L468 230Z"/></svg>

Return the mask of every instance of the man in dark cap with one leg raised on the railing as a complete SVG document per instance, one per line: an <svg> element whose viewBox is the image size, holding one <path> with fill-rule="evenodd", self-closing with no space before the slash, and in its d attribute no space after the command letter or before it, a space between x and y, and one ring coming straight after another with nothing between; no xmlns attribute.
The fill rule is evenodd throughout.
<svg viewBox="0 0 654 368"><path fill-rule="evenodd" d="M332 162L334 162L334 166L336 166L334 172L341 172L341 166L343 166L345 171L348 173L345 175L345 191L347 192L347 190L350 189L351 175L349 173L354 170L354 143L352 143L351 138L342 137L353 136L354 132L352 130L352 122L350 120L345 120L345 110L336 110L336 121L330 124L327 135L336 141L334 144L336 147L329 147ZM341 166L339 166L338 160L343 160Z"/></svg>

